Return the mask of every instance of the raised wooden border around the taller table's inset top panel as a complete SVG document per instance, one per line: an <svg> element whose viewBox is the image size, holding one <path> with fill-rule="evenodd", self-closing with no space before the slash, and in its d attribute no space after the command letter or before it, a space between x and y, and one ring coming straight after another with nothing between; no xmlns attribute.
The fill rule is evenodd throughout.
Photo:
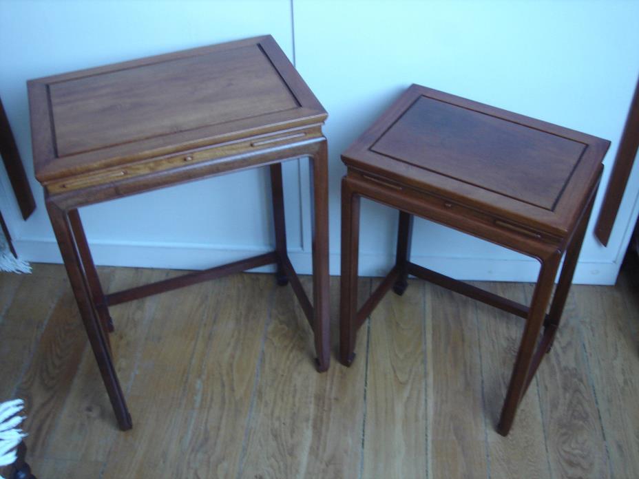
<svg viewBox="0 0 639 479"><path fill-rule="evenodd" d="M277 74L282 78L284 85L288 87L291 95L297 100L297 103L300 104L300 107L253 118L242 118L224 124L231 125L230 131L224 131L224 129L220 131L220 125L205 126L198 129L180 131L175 134L154 136L150 139L136 140L121 145L96 149L87 153L77 153L64 157L55 156L52 122L50 118L51 111L47 93L50 83L103 74L125 68L151 65L159 61L170 61L177 58L231 50L249 45L258 45L258 47L260 47L266 58L271 61ZM102 169L117 167L131 161L136 162L156 156L187 151L189 149L214 146L222 142L251 138L253 136L259 136L260 134L275 133L293 127L324 123L326 118L328 118L328 114L324 107L322 107L320 101L317 100L311 89L306 85L306 82L304 82L304 79L300 76L299 72L295 70L289 58L286 57L271 35L254 36L249 39L217 43L215 45L190 48L167 54L145 56L134 60L76 70L74 72L44 76L28 81L27 87L33 138L34 172L36 179L41 183L60 180L81 173L101 171ZM263 125L255 126L254 121L253 125L250 124L251 120L260 117L263 119ZM199 133L196 134L196 131L199 131ZM132 153L132 145L139 145L136 153ZM80 158L88 158L90 164L74 164L74 161ZM52 162L56 160L58 164L52 166ZM61 162L70 164L60 164Z"/></svg>

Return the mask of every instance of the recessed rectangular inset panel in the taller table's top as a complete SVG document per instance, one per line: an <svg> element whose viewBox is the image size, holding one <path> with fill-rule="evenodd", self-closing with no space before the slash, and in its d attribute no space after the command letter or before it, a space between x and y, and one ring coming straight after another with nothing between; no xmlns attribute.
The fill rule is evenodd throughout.
<svg viewBox="0 0 639 479"><path fill-rule="evenodd" d="M258 45L52 83L49 94L57 156L300 106Z"/></svg>

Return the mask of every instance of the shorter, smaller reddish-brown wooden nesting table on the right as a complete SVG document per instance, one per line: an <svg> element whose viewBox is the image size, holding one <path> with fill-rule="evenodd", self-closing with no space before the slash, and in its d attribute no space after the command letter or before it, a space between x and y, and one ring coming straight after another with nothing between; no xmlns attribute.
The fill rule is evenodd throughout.
<svg viewBox="0 0 639 479"><path fill-rule="evenodd" d="M521 316L525 330L497 426L508 434L556 334L608 147L607 140L578 131L419 85L408 88L342 155L348 167L342 181L342 363L352 363L355 334L366 317L391 287L401 295L409 274ZM399 209L399 231L395 266L357 312L362 196ZM411 263L412 215L538 259L530 307Z"/></svg>

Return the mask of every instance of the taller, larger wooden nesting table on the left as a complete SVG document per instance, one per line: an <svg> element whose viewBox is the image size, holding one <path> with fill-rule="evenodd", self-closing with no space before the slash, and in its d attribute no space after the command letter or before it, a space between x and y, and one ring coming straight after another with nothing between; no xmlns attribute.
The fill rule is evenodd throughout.
<svg viewBox="0 0 639 479"><path fill-rule="evenodd" d="M121 429L132 427L114 369L108 307L277 264L328 368L326 111L271 36L196 48L28 82L36 178ZM286 253L281 162L313 173L313 306ZM269 165L275 251L105 295L78 207ZM123 212L125 213L125 212Z"/></svg>

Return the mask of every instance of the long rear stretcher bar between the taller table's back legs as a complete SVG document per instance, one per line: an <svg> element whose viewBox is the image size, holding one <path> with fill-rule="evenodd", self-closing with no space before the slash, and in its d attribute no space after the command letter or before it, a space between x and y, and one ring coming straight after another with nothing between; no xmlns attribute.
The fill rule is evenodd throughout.
<svg viewBox="0 0 639 479"><path fill-rule="evenodd" d="M223 264L222 266L216 266L215 268L195 271L193 273L188 273L187 275L164 279L163 281L156 281L155 283L137 286L136 288L113 292L110 295L106 295L105 300L107 305L114 306L115 304L126 303L127 301L133 301L134 299L157 295L160 292L191 286L192 284L198 284L202 281L208 281L209 279L216 279L232 275L234 273L241 273L244 270L258 268L259 266L265 266L266 264L273 264L275 262L277 262L277 253L272 251L271 253L266 253L264 255L253 256L233 263Z"/></svg>

